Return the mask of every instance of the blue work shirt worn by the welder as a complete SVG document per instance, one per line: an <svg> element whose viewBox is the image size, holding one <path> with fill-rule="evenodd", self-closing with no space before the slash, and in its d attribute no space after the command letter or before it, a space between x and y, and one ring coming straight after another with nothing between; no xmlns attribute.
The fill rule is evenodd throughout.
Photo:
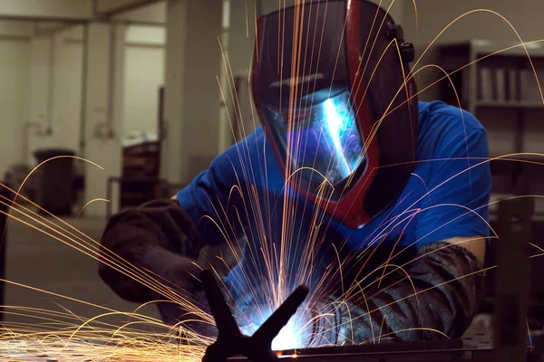
<svg viewBox="0 0 544 362"><path fill-rule="evenodd" d="M265 299L301 282L329 288L345 281L353 261L378 258L373 246L384 248L386 259L393 256L387 261L398 265L394 257L425 243L489 235L491 172L481 123L441 101L420 102L416 160L396 202L370 224L352 229L287 186L258 127L182 189L178 201L204 243L236 246L247 238L242 261L225 279L237 300L240 293L252 294L246 301ZM380 258L377 265L385 262ZM350 282L361 278L355 274ZM257 285L268 290L257 291Z"/></svg>

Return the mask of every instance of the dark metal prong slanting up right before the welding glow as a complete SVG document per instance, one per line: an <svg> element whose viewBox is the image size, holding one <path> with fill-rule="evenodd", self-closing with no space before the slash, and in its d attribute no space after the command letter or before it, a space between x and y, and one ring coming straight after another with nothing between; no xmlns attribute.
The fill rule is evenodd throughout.
<svg viewBox="0 0 544 362"><path fill-rule="evenodd" d="M270 341L271 344L272 339L286 326L289 319L295 315L298 307L306 300L309 291L306 285L296 288L287 300L257 329L257 332L253 334L253 338Z"/></svg>

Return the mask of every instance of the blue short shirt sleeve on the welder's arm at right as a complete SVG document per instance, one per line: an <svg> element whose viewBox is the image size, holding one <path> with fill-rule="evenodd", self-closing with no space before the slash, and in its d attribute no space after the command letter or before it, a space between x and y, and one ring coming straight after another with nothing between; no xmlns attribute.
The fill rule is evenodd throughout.
<svg viewBox="0 0 544 362"><path fill-rule="evenodd" d="M416 217L416 244L452 237L490 233L491 171L487 134L470 113L435 114L446 117L435 133L434 153L423 198ZM444 121L445 120L445 121ZM475 127L477 125L478 127Z"/></svg>

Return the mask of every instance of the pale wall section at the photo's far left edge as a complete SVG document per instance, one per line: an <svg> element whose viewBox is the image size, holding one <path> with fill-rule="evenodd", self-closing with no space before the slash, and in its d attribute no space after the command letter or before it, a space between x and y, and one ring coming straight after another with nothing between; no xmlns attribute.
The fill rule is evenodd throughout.
<svg viewBox="0 0 544 362"><path fill-rule="evenodd" d="M28 119L30 45L0 40L0 177L24 162L24 123Z"/></svg>

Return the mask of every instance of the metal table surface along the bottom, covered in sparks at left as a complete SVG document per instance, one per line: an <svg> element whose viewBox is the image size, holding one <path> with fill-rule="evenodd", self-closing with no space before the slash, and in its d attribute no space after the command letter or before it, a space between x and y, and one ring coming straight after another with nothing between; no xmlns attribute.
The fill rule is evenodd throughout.
<svg viewBox="0 0 544 362"><path fill-rule="evenodd" d="M167 344L165 344L167 348ZM122 349L122 351L121 351ZM374 344L355 347L335 348L314 348L300 351L284 351L280 361L287 362L296 359L299 361L311 362L442 362L442 361L491 361L491 341L486 336L465 336L464 340L433 340L427 342L403 342ZM72 362L72 361L141 361L144 359L131 356L138 356L138 348L119 348L116 355L116 348L105 346L103 343L92 341L58 341L49 345L49 349L37 340L4 340L0 341L0 360L9 361L33 361L33 362ZM296 357L294 355L296 354ZM149 352L141 357L148 356ZM159 356L159 355L157 355ZM169 355L168 358L157 357L157 360L177 360L197 362L200 356L182 357ZM233 357L232 361L247 361L244 357Z"/></svg>

